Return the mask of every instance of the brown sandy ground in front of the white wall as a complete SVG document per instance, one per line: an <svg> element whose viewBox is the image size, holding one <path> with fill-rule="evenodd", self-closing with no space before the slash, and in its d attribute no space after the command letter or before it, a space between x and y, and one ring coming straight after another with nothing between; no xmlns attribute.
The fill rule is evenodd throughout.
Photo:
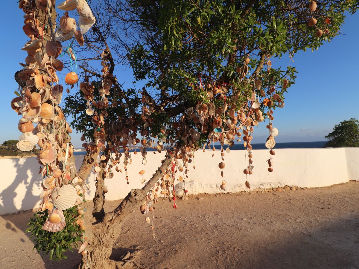
<svg viewBox="0 0 359 269"><path fill-rule="evenodd" d="M140 212L111 258L143 246L141 268L359 268L359 181L325 188L196 195L155 213L154 240ZM107 202L111 210L118 201ZM41 259L24 234L31 211L0 216L0 268L71 268Z"/></svg>

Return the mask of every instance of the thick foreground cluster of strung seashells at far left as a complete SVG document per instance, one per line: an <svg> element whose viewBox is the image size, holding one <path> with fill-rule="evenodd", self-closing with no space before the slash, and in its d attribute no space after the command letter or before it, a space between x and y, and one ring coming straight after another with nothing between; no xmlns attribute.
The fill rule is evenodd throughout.
<svg viewBox="0 0 359 269"><path fill-rule="evenodd" d="M78 176L71 181L73 167L69 163L69 158L73 155L73 146L70 142L72 130L59 106L63 86L59 84L56 72L64 68L63 62L58 59L62 52L61 42L75 36L82 45L83 28L86 29L92 24L80 18L81 31L76 31L75 20L65 13L60 19L60 27L53 33L55 25L50 24L51 35L45 34L41 25L47 24L47 20L40 22L35 9L46 11L46 15L50 16L52 2L54 1L19 1L19 8L25 13L23 31L30 40L22 48L27 52L27 56L25 63L20 63L23 69L15 75L19 92L15 91L18 97L11 100L11 108L22 116L18 123L22 135L17 147L22 151L33 150L35 145L40 148L37 156L40 164L39 173L43 176L40 211L48 211L47 220L42 228L50 232L61 231L66 226L63 211L77 205L78 216L74 223L85 230L84 211L79 204L83 202L84 193L89 190L89 185L76 185L83 181ZM89 16L86 1L65 1L60 4L65 10L72 10L69 9L69 5L72 9L77 5L80 17ZM66 49L66 52L69 57L76 60L71 47ZM68 85L74 85L77 81L78 75L75 72L70 72L65 77ZM85 249L84 245L85 241L81 246ZM81 251L85 251L84 249Z"/></svg>

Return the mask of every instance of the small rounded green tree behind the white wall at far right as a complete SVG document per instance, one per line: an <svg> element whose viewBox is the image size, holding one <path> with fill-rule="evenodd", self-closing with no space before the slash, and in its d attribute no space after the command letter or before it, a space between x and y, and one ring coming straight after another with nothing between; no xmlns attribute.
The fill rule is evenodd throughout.
<svg viewBox="0 0 359 269"><path fill-rule="evenodd" d="M324 147L359 147L359 121L355 118L342 121L325 138L329 141Z"/></svg>

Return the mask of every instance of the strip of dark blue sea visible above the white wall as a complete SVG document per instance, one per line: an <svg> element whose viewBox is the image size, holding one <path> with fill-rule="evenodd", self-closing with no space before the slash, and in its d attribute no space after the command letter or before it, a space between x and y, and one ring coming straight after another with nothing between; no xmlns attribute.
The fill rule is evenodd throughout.
<svg viewBox="0 0 359 269"><path fill-rule="evenodd" d="M285 143L276 143L275 149L278 148L322 148L327 141L316 141L316 142L285 142ZM215 145L218 147L219 145ZM256 143L252 144L253 150L265 150L267 149L264 145L264 143ZM225 146L224 148L226 148ZM219 148L219 147L218 147ZM230 148L230 150L242 150L243 149L243 142L236 142L233 147ZM153 149L147 149L148 151L151 151ZM83 155L85 154L85 151L75 151L74 155Z"/></svg>

